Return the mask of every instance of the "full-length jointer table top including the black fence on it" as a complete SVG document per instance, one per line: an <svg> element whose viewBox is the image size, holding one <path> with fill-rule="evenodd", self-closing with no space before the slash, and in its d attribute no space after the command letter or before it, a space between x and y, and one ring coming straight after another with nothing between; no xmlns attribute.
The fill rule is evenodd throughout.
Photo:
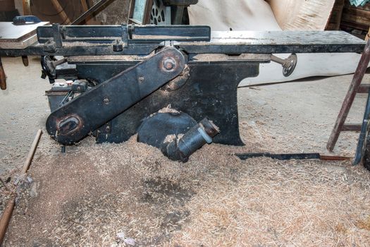
<svg viewBox="0 0 370 247"><path fill-rule="evenodd" d="M363 51L365 42L341 31L211 32L207 26L44 26L26 49L0 55L145 55L164 45L187 54L273 54Z"/></svg>

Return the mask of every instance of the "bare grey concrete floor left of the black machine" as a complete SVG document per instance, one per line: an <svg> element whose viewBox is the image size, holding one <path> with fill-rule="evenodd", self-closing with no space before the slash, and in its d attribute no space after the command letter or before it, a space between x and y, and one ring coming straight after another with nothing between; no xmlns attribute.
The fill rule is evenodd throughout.
<svg viewBox="0 0 370 247"><path fill-rule="evenodd" d="M25 161L33 138L44 128L49 108L39 59L30 57L23 66L20 58L1 58L8 88L0 91L0 174L20 167Z"/></svg>

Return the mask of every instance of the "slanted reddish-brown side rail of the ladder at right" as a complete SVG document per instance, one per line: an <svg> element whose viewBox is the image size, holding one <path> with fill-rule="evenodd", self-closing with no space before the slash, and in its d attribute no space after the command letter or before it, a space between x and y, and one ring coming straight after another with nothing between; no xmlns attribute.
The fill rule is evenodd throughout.
<svg viewBox="0 0 370 247"><path fill-rule="evenodd" d="M338 114L338 118L335 121L333 131L331 131L331 136L328 140L328 144L326 145L326 148L329 151L333 151L335 143L337 143L338 141L340 131L343 129L345 119L347 119L348 112L350 112L354 97L356 96L356 93L359 91L359 85L362 82L362 78L364 78L364 74L366 73L369 61L370 61L370 40L366 42L364 52L362 52L361 59L359 60L359 64L357 66L356 71L354 72L350 88L348 89L347 95L345 95L345 100L343 101L342 108L340 109L340 112Z"/></svg>

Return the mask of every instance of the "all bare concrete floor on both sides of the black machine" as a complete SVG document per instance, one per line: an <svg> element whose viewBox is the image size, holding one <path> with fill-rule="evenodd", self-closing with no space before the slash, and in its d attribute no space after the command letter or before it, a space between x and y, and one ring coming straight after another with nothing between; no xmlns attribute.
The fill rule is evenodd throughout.
<svg viewBox="0 0 370 247"><path fill-rule="evenodd" d="M0 174L22 166L37 129L49 114L48 80L39 59L24 67L20 58L3 58L8 89L0 92ZM240 88L240 125L260 136L271 152L326 152L326 141L352 76ZM369 82L370 76L365 80ZM358 95L348 121L359 122L366 95ZM242 131L242 138L248 136ZM341 135L335 152L353 155L357 133ZM266 138L268 136L269 138Z"/></svg>

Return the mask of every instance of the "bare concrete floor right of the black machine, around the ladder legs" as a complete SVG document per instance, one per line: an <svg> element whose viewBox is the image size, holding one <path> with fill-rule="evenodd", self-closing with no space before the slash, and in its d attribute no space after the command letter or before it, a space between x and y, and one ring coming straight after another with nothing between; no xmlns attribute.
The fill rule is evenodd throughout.
<svg viewBox="0 0 370 247"><path fill-rule="evenodd" d="M313 78L238 91L240 123L271 136L271 150L328 152L326 143L352 80L352 75ZM370 75L364 83L370 81ZM354 100L347 123L361 123L367 95ZM342 133L334 152L353 155L358 133ZM264 138L261 139L261 141ZM247 137L244 137L247 142Z"/></svg>

